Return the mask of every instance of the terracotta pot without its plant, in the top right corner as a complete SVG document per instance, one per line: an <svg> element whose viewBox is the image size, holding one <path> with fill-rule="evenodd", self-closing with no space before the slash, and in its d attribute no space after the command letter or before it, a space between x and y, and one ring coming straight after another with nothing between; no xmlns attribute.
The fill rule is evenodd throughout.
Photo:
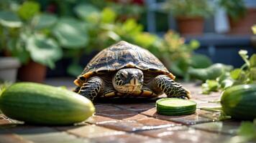
<svg viewBox="0 0 256 143"><path fill-rule="evenodd" d="M256 24L256 9L247 9L244 17L233 20L229 17L229 34L252 34L251 27Z"/></svg>

